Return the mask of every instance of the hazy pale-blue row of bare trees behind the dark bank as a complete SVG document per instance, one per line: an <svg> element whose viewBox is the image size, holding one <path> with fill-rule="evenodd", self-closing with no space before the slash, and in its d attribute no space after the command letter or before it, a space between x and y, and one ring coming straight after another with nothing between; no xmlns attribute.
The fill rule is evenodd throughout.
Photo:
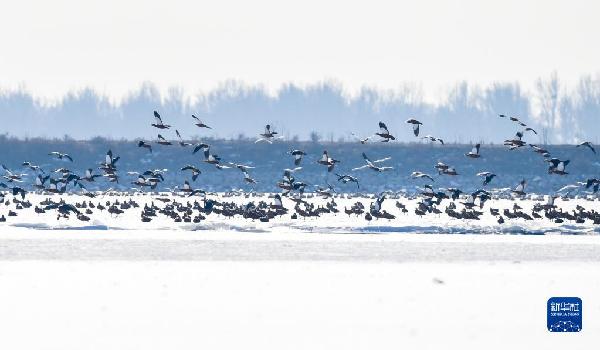
<svg viewBox="0 0 600 350"><path fill-rule="evenodd" d="M161 96L156 86L145 83L118 104L91 89L69 93L50 105L27 91L3 91L0 133L20 139L152 140L158 134L150 126L153 110L173 126L162 132L171 139L178 129L185 139L250 140L271 124L287 140L353 141L373 134L381 120L398 141L416 142L420 140L405 124L414 117L423 122L423 135L446 142L501 143L518 131L514 123L498 118L503 113L537 130L537 136L528 135L532 143L599 143L600 78L583 77L575 88L566 89L553 73L527 93L517 83L478 87L461 82L435 105L409 85L394 91L364 88L349 98L336 83L306 88L290 84L271 96L262 88L229 82L189 99L177 88ZM191 114L213 129L196 128Z"/></svg>

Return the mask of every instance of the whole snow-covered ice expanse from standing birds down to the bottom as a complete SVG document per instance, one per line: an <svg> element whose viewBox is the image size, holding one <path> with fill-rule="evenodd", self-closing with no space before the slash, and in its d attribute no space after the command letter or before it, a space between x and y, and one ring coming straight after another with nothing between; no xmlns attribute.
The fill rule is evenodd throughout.
<svg viewBox="0 0 600 350"><path fill-rule="evenodd" d="M354 200L336 199L340 209ZM94 213L87 223L19 211L0 226L0 348L589 349L600 341L591 222L498 225L487 211L476 222L419 218L414 200L399 200L409 213L389 200L384 209L398 218L372 222L343 210L270 222L209 215L199 224L142 223L139 209ZM518 201L524 210L534 203ZM556 204L598 209L597 201ZM546 330L552 296L582 298L582 332Z"/></svg>

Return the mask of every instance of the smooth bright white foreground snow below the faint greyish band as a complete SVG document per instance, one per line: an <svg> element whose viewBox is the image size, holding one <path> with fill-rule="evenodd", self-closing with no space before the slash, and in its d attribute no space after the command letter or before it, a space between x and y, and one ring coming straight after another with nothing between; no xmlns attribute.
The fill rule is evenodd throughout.
<svg viewBox="0 0 600 350"><path fill-rule="evenodd" d="M0 348L591 349L598 264L0 262ZM552 296L583 331L546 330Z"/></svg>

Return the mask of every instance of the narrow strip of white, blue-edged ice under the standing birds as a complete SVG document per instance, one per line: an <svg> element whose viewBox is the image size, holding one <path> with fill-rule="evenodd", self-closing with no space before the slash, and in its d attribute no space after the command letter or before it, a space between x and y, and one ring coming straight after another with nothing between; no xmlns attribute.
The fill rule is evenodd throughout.
<svg viewBox="0 0 600 350"><path fill-rule="evenodd" d="M325 207L330 199L323 199L312 194L310 198L305 198L309 203L313 203L315 207ZM209 194L207 198L218 202L234 202L238 205L245 205L249 202L257 204L259 201L265 201L268 204L274 203L272 194L256 193L253 195L228 195L224 193ZM338 213L327 213L320 217L299 216L297 219L291 219L291 214L294 212L294 202L287 198L283 198L283 204L289 209L289 213L277 216L269 222L261 222L259 220L245 219L241 215L226 217L223 215L210 214L206 215L206 219L200 223L174 222L171 218L164 215L153 217L151 222L142 222L140 214L142 207L145 204L154 204L163 208L166 204L159 199L177 201L181 204L193 203L194 200L202 203L202 199L198 197L189 198L187 196L177 196L170 193L161 194L121 194L115 196L99 196L96 198L88 198L81 195L69 194L66 196L46 196L39 194L28 194L27 199L31 201L33 206L45 199L50 198L54 201L59 201L61 198L66 203L75 204L82 202L92 202L96 205L105 204L106 201L126 202L133 200L140 205L139 208L131 208L125 210L124 213L114 215L106 210L93 210L93 214L89 215L90 221L83 222L77 220L75 215L70 218L57 219L55 210L48 210L46 213L36 214L33 207L16 211L18 216L7 217L7 221L0 223L0 227L21 227L29 229L77 229L77 230L205 230L205 231L242 231L242 232L323 232L323 233L476 233L476 234L597 234L600 232L600 225L595 225L591 220L586 220L584 223L575 223L574 221L565 221L564 223L555 223L547 218L536 220L525 219L506 219L504 224L497 223L497 217L490 213L490 208L496 208L500 211L500 216L503 216L502 211L508 209L513 210L515 204L522 207L521 211L531 214L531 209L535 204L543 204L543 196L532 196L531 199L512 200L495 198L485 203L483 209L476 207L483 214L479 220L453 219L444 213L427 214L418 216L414 213L420 198L406 198L401 195L391 195L383 202L382 210L385 210L396 216L395 219L376 219L367 221L364 215L347 215L344 213L345 208L350 208L352 204L361 202L366 211L369 210L369 205L375 201L373 195L352 197L347 196L335 198ZM404 204L408 210L407 213L402 213L396 207L396 202ZM462 209L461 202L464 199L455 201L458 211ZM441 206L438 206L442 211L450 203L445 200ZM600 212L600 201L595 198L579 198L563 200L558 198L555 200L557 208L564 212L573 212L576 207L582 206L587 211L594 210ZM83 210L82 210L83 211ZM7 209L0 209L0 215L5 215ZM543 212L542 212L543 213Z"/></svg>

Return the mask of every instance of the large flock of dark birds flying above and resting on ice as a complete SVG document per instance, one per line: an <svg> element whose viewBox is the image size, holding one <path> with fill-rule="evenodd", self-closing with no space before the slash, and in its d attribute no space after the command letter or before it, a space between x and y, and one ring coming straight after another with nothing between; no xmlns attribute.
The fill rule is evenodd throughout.
<svg viewBox="0 0 600 350"><path fill-rule="evenodd" d="M515 123L519 131L516 132L515 136L504 141L504 145L508 150L514 150L517 148L529 146L533 152L539 154L542 159L548 163L548 174L564 176L567 175L567 166L570 163L568 159L560 159L554 157L545 150L543 147L535 144L527 143L524 137L527 133L537 134L537 131L531 127L528 127L523 121L514 116L506 116L503 114L499 115L500 118L506 118L510 122ZM160 130L161 133L166 133L171 129L171 125L165 124L161 115L154 111L154 123L151 126ZM201 129L211 129L210 126L205 124L200 118L192 115L194 125ZM423 123L414 118L406 120L406 123L411 125L412 132L415 137L423 140L428 140L432 143L438 143L444 145L444 140L439 137L432 135L419 136L421 129L424 127ZM379 122L379 130L374 132L372 135L367 137L358 137L353 134L361 144L369 142L392 142L396 140L396 137L390 132L387 125L384 122ZM175 136L178 141L170 141L165 138L162 134L157 134L157 139L152 141L138 141L137 146L147 152L152 152L153 147L189 147L192 154L200 154L203 156L201 162L208 165L214 166L216 169L237 169L243 175L243 181L249 185L256 184L257 181L252 177L253 166L246 164L238 164L233 162L227 162L222 157L215 154L211 150L211 145L204 142L192 143L185 141L181 136L179 130L175 130ZM266 125L264 131L258 135L255 142L265 142L272 144L274 141L281 139L277 131L271 125ZM576 147L585 147L589 151L596 153L593 145L590 142L582 142L576 145ZM482 148L481 144L474 145L468 152L464 154L465 157L477 161L485 155L485 148ZM73 163L73 157L67 153L53 151L48 154L49 157L55 158L62 161L62 164ZM179 195L184 200L178 200L177 197L163 198L157 197L157 202L164 203L164 206L157 206L154 201L150 204L144 204L141 211L141 221L149 222L152 221L153 217L159 214L163 214L166 217L173 219L175 222L201 222L209 214L223 215L225 217L231 216L242 216L248 219L257 219L261 221L269 221L275 217L287 215L290 212L290 208L286 208L283 202L283 198L294 203L293 213L291 214L292 219L298 219L299 217L319 217L328 213L338 213L336 198L344 197L343 193L338 193L334 186L326 183L326 186L316 186L314 193L307 191L308 188L312 188L312 185L306 182L296 179L296 174L300 172L305 166L305 157L307 153L304 150L293 149L287 153L290 156L290 164L293 163L293 167L282 169L283 176L277 181L278 188L281 189L281 193L269 195L272 199L270 203L264 200L260 200L258 203L250 201L244 204L239 204L236 201L225 200L227 196L222 196L223 200L208 199L207 192L201 188L193 188L189 180L183 181L181 187L176 186L175 188L168 189L173 194ZM0 203L5 205L14 205L15 209L21 210L31 208L32 203L27 200L27 194L29 192L37 192L40 194L65 194L67 188L71 186L75 189L80 189L81 195L88 197L85 200L77 202L75 204L66 203L62 196L59 196L59 200L55 201L48 197L45 201L40 202L35 206L34 210L38 214L45 213L47 211L56 210L57 219L68 218L69 215L75 214L75 216L82 221L88 221L94 210L107 210L108 213L119 215L124 211L131 208L139 208L140 205L134 201L131 197L128 200L119 201L105 201L104 204L93 200L98 200L98 196L105 196L112 194L115 191L108 189L107 191L88 191L86 183L93 183L100 179L105 181L119 182L122 181L121 172L118 170L117 163L119 156L114 156L111 150L108 150L104 156L104 160L100 162L97 169L88 168L83 174L78 175L75 171L67 167L58 167L52 171L46 172L41 166L35 165L32 162L25 161L22 163L23 168L29 169L31 172L36 174L36 177L31 184L31 188L26 189L22 183L25 182L27 173L20 173L2 165L5 174L3 175L4 182L0 182L0 187L4 191L0 192ZM342 173L336 171L336 167L339 168L340 161L335 159L327 150L324 150L322 155L316 160L315 166L322 166L326 173L333 173L340 185L354 184L357 189L360 188L360 181L356 172L361 170L372 170L376 173L384 173L392 170L392 166L384 165L386 161L390 160L391 157L384 157L381 159L371 159L369 156L362 152L362 159L364 165L352 168L348 173ZM459 173L456 168L452 165L445 164L443 162L437 162L434 165L434 169L437 171L439 176L457 176ZM189 173L192 183L195 183L202 171L199 166L193 164L185 164L179 169L182 173ZM99 171L96 173L96 171ZM168 169L149 169L143 171L127 171L127 176L132 176L133 180L130 184L134 186L136 192L149 194L152 191L156 191L160 183L164 182L164 172ZM472 193L463 193L458 188L438 188L435 189L432 184L435 182L433 176L426 172L414 171L411 177L414 179L423 179L430 183L425 184L421 187L417 199L418 202L414 209L416 215L424 216L428 214L442 215L446 214L449 217L457 219L474 219L478 220L483 214L481 211L484 208L484 204L492 199L493 196L508 196L510 198L524 197L527 187L527 181L521 180L514 188L509 189L490 189L487 188L493 182L494 178L498 175L483 171L474 174L482 178L481 188ZM600 180L597 178L590 178L584 182L578 182L573 185L565 186L560 189L561 191L569 191L575 188L585 187L590 189L591 193L597 193L600 187ZM144 189L150 190L151 192L145 192ZM5 198L6 195L12 193L12 202ZM130 194L130 193L129 193ZM121 194L121 195L128 195ZM241 195L238 193L238 195ZM246 198L250 197L249 193L244 194ZM266 194L252 193L251 196L263 197ZM316 205L310 203L307 199L318 196L326 199L325 204ZM187 201L185 198L188 198ZM196 198L194 198L196 197ZM199 198L198 198L199 197ZM348 198L368 198L372 202L368 205L363 204L361 201L354 202L349 208L345 207L344 212L349 215L363 216L365 220L372 220L373 218L383 219L394 219L396 215L384 210L382 204L386 198L401 199L401 196L391 192L383 192L378 195L351 195L346 194ZM507 198L508 198L507 197ZM553 222L561 223L565 220L574 222L585 222L585 220L591 220L594 224L600 224L600 213L594 210L586 210L585 208L578 206L576 210L572 212L563 212L560 208L554 204L554 199L557 198L555 195L548 196L548 201L545 204L536 204L532 209L531 213L522 211L516 203L512 210L504 209L501 211L499 208L489 208L490 214L497 217L497 222L502 224L507 219L525 219L534 220L547 218ZM444 201L450 203L443 208L441 205ZM477 204L476 204L477 203ZM458 205L462 208L459 210ZM408 209L405 204L401 203L400 200L396 201L396 208L401 213L407 213ZM368 208L367 208L368 207ZM443 209L443 210L442 210ZM543 212L543 215L541 214ZM17 212L9 210L8 216L16 216ZM0 221L6 221L6 217L2 215Z"/></svg>

